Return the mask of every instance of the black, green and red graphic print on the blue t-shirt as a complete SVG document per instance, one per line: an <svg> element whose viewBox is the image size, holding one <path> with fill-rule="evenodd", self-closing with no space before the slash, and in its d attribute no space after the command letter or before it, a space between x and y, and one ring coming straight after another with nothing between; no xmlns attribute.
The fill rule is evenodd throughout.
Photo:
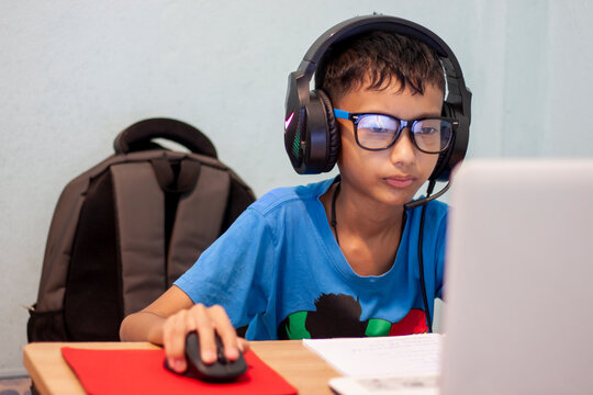
<svg viewBox="0 0 593 395"><path fill-rule="evenodd" d="M398 323L382 318L360 320L362 307L350 295L322 294L315 300L314 312L295 312L278 326L281 340L332 337L401 336L426 334L424 311L413 308Z"/></svg>

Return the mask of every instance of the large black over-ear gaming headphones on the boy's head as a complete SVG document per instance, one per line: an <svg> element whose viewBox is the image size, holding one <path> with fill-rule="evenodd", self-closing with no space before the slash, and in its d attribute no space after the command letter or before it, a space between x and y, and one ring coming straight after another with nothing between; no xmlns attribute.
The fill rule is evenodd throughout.
<svg viewBox="0 0 593 395"><path fill-rule="evenodd" d="M339 154L339 131L327 94L311 91L318 61L337 42L369 31L393 32L419 40L440 57L447 83L443 116L459 121L452 144L439 155L432 181L448 181L451 169L466 156L471 120L471 92L466 88L459 63L447 44L436 34L414 22L384 15L357 16L325 32L309 48L299 69L289 75L284 117L284 147L292 167L301 174L331 171ZM320 79L316 79L320 80Z"/></svg>

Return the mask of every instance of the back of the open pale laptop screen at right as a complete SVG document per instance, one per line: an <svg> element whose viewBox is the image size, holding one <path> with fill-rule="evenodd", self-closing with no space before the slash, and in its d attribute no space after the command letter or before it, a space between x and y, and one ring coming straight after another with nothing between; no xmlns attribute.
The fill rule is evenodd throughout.
<svg viewBox="0 0 593 395"><path fill-rule="evenodd" d="M593 159L467 160L449 204L441 394L593 394Z"/></svg>

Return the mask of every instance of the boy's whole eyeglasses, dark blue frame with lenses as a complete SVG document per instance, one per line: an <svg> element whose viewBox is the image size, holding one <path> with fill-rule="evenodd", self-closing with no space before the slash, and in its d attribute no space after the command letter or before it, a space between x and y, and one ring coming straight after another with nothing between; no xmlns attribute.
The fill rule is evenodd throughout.
<svg viewBox="0 0 593 395"><path fill-rule="evenodd" d="M353 122L356 143L368 150L388 149L395 144L404 127L410 127L412 144L418 150L440 154L449 147L459 125L457 120L443 116L404 121L387 114L349 113L337 109L334 115Z"/></svg>

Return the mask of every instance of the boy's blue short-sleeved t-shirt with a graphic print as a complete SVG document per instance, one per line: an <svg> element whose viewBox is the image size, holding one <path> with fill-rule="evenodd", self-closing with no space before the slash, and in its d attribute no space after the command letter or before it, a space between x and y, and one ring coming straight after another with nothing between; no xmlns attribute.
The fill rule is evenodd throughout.
<svg viewBox="0 0 593 395"><path fill-rule="evenodd" d="M392 268L361 276L342 253L320 201L332 182L267 193L175 284L194 303L222 305L236 328L248 326L250 340L426 331L417 259L422 207L407 212ZM429 302L443 287L446 217L446 204L427 204Z"/></svg>

